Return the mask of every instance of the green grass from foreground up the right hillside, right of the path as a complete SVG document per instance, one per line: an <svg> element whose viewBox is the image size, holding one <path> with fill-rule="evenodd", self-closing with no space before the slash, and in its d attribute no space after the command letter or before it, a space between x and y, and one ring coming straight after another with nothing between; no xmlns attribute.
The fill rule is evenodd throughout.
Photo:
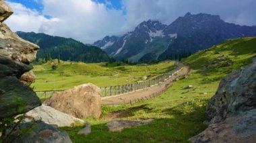
<svg viewBox="0 0 256 143"><path fill-rule="evenodd" d="M207 101L216 92L220 79L249 64L256 56L255 46L256 38L241 38L197 52L183 60L191 66L188 78L175 82L160 97L133 105L102 106L100 119L85 119L92 124L92 134L88 136L77 135L81 126L62 129L68 132L73 142L188 142L189 138L207 127L203 124ZM218 60L222 54L225 58ZM213 64L216 60L218 62ZM223 66L226 62L230 65ZM183 89L187 85L193 85L193 88ZM106 115L111 112L123 113L120 119L153 118L154 122L112 133L106 128Z"/></svg>

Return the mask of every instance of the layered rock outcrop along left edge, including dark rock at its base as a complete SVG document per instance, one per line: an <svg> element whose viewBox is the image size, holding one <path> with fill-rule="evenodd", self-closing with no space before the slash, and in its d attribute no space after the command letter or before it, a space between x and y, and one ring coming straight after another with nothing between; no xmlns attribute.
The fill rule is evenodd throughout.
<svg viewBox="0 0 256 143"><path fill-rule="evenodd" d="M20 82L24 73L32 69L38 46L22 40L3 21L13 13L0 0L0 122L26 113L41 105L36 93ZM25 74L26 75L26 74ZM28 76L27 76L28 77ZM31 76L30 76L31 77ZM31 78L28 78L31 79ZM28 81L25 79L24 81ZM0 142L71 142L66 132L42 122L15 122L1 125Z"/></svg>

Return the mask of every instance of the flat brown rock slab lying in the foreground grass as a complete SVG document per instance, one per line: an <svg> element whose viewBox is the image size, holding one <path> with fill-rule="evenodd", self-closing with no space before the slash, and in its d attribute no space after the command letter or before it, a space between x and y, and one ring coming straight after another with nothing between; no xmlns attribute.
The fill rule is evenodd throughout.
<svg viewBox="0 0 256 143"><path fill-rule="evenodd" d="M110 132L121 132L124 128L131 128L136 126L142 126L150 124L153 120L146 120L146 121L133 121L133 120L114 120L108 122L106 126Z"/></svg>

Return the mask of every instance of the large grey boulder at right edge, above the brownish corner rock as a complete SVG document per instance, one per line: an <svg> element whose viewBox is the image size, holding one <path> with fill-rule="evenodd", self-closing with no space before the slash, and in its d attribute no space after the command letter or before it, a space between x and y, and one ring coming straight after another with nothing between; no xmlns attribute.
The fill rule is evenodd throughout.
<svg viewBox="0 0 256 143"><path fill-rule="evenodd" d="M207 121L218 123L255 109L256 107L256 62L227 75L210 99L207 106Z"/></svg>

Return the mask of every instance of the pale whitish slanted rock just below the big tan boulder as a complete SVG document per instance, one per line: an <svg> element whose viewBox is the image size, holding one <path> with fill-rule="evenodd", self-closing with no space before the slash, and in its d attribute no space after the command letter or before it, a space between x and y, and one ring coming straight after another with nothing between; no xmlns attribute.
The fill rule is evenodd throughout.
<svg viewBox="0 0 256 143"><path fill-rule="evenodd" d="M57 125L58 127L84 124L84 120L77 119L46 105L41 105L40 107L28 111L25 117L27 122L42 121L46 124Z"/></svg>

